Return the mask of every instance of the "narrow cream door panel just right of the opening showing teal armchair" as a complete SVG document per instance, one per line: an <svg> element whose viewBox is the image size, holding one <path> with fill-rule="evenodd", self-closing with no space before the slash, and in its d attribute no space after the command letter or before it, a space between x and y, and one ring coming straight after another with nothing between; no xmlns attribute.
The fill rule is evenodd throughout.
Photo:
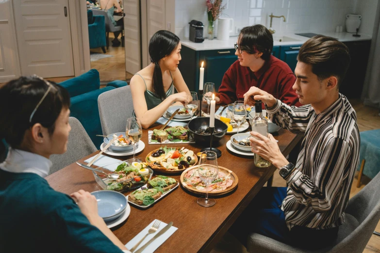
<svg viewBox="0 0 380 253"><path fill-rule="evenodd" d="M125 69L131 74L141 70L140 1L124 0Z"/></svg>

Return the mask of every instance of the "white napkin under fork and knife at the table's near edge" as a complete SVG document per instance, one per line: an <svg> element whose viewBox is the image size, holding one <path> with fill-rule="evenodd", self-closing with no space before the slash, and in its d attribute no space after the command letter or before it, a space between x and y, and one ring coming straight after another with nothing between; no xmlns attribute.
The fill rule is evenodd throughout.
<svg viewBox="0 0 380 253"><path fill-rule="evenodd" d="M154 220L156 221L156 220ZM144 228L140 233L138 233L137 236L133 237L132 240L130 240L126 245L125 247L127 247L127 249L132 249L132 247L134 247L134 245L136 245L137 242L139 242L139 240L141 240L141 238L143 238L146 234L148 234L148 231L149 231L149 228L153 225L154 221L150 222L150 224ZM141 248L142 246L145 245L145 243L147 243L151 238L153 238L158 232L160 232L161 229L163 229L167 224L165 222L162 222L160 223L160 227L158 228L157 232L156 233L153 233L153 234L150 234L149 236L147 236L141 243L140 245L137 247L136 251ZM145 250L142 252L142 253L153 253L155 250L158 249L158 247L161 246L161 244L163 244L167 238L169 238L171 235L174 234L174 232L176 232L178 228L176 227L173 227L171 226L163 235L159 236L158 238L156 238L154 241L152 241L152 243L149 244L149 246L147 248L145 248Z"/></svg>

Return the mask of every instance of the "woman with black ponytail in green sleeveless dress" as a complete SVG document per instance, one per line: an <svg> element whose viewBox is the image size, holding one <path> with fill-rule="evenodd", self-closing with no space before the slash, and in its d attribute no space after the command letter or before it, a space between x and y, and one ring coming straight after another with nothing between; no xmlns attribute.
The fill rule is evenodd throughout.
<svg viewBox="0 0 380 253"><path fill-rule="evenodd" d="M190 94L178 69L181 42L177 35L164 30L154 33L149 55L151 63L137 72L130 83L134 112L143 128L149 128L169 106L186 101Z"/></svg>

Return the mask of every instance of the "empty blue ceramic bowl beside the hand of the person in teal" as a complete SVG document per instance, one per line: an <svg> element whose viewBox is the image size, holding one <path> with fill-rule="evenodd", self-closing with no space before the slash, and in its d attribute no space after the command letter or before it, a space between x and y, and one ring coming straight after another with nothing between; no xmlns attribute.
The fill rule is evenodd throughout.
<svg viewBox="0 0 380 253"><path fill-rule="evenodd" d="M123 194L114 190L98 190L91 192L98 201L98 214L104 221L113 221L118 218L125 207L127 199Z"/></svg>

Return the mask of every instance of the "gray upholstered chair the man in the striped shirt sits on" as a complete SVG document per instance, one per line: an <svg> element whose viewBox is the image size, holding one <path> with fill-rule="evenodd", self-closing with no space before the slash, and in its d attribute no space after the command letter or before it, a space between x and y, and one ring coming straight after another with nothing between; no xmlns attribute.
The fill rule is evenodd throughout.
<svg viewBox="0 0 380 253"><path fill-rule="evenodd" d="M251 253L361 253L380 219L379 189L380 173L349 200L346 222L339 227L338 238L329 248L306 251L254 233L248 236L247 250Z"/></svg>

